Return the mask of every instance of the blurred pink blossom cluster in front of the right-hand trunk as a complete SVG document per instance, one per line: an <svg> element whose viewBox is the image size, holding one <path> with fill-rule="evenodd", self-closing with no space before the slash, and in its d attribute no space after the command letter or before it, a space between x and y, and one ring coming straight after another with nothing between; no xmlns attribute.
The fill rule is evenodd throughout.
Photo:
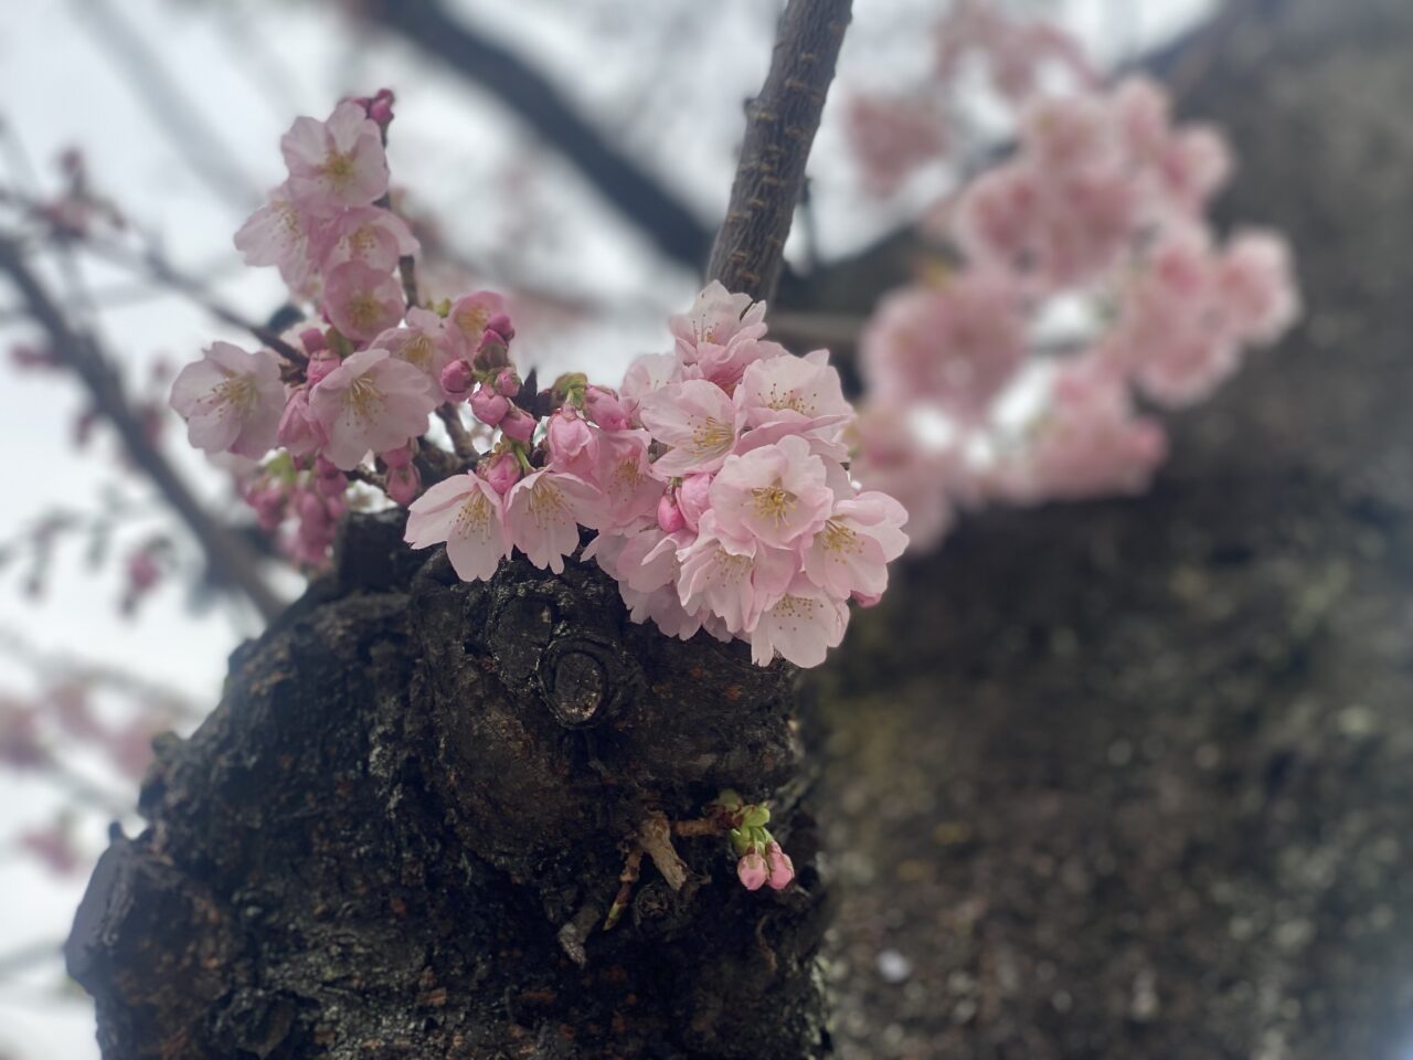
<svg viewBox="0 0 1413 1060"><path fill-rule="evenodd" d="M1140 492L1167 452L1143 407L1210 397L1299 317L1277 235L1214 235L1228 148L1163 89L1019 98L1013 155L938 211L948 256L861 335L853 472L918 548L958 507Z"/></svg>

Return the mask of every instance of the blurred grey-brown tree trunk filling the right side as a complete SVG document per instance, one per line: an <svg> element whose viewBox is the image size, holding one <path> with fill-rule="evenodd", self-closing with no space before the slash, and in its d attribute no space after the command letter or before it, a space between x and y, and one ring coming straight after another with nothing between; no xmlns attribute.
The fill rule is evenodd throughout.
<svg viewBox="0 0 1413 1060"><path fill-rule="evenodd" d="M844 1057L1413 1049L1413 6L1243 8L1186 110L1308 319L1150 495L969 520L855 618Z"/></svg>

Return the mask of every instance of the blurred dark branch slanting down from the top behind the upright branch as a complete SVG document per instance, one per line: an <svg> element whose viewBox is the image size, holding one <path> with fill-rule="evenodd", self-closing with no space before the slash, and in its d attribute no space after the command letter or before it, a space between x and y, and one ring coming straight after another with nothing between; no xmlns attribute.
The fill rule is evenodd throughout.
<svg viewBox="0 0 1413 1060"><path fill-rule="evenodd" d="M605 201L668 257L699 269L711 232L694 211L603 139L560 90L519 57L448 14L439 0L369 0L379 25L492 92L561 151ZM832 69L832 64L831 64Z"/></svg>

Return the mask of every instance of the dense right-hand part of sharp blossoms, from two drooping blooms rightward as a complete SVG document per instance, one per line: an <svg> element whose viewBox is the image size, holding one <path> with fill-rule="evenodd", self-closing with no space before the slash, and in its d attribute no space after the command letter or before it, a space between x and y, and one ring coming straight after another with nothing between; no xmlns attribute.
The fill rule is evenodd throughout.
<svg viewBox="0 0 1413 1060"><path fill-rule="evenodd" d="M764 310L714 283L673 318L675 349L639 358L617 390L557 380L543 428L514 404L504 345L483 343L444 382L475 380L472 410L499 417L500 441L411 506L407 540L447 543L456 572L478 579L513 550L560 571L581 527L595 530L584 555L617 579L636 622L749 640L762 664L779 653L817 666L849 601L883 592L907 516L851 481L838 372L824 351L794 358L766 339Z"/></svg>

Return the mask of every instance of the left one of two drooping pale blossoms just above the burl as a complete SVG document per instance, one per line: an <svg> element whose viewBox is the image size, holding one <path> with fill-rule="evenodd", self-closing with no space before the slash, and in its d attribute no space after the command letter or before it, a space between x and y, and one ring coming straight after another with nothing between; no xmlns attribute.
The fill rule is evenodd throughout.
<svg viewBox="0 0 1413 1060"><path fill-rule="evenodd" d="M413 548L445 543L458 578L490 578L510 555L500 492L472 473L438 482L408 507L407 543Z"/></svg>

